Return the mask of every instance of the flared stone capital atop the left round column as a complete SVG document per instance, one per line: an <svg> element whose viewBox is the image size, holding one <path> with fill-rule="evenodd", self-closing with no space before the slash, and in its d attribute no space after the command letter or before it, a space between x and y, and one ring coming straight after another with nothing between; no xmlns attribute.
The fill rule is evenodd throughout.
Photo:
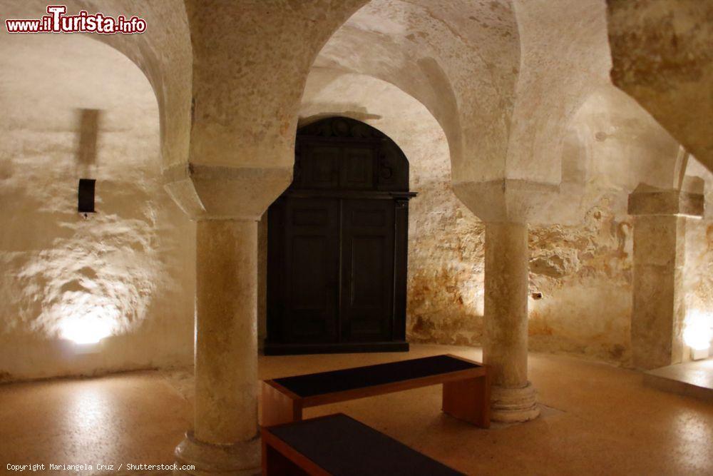
<svg viewBox="0 0 713 476"><path fill-rule="evenodd" d="M163 186L192 220L260 217L292 182L292 166L183 163L163 170Z"/></svg>

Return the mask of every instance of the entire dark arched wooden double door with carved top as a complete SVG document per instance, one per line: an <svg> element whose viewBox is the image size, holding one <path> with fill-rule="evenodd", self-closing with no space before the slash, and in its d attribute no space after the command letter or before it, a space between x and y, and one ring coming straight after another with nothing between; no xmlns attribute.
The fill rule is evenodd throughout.
<svg viewBox="0 0 713 476"><path fill-rule="evenodd" d="M297 131L292 185L268 211L266 355L409 349L414 196L384 133L343 117Z"/></svg>

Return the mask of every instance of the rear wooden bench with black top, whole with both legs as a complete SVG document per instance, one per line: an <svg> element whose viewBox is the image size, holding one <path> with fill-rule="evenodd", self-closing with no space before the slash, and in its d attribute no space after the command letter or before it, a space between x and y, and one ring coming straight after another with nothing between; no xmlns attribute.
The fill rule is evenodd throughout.
<svg viewBox="0 0 713 476"><path fill-rule="evenodd" d="M302 420L307 407L443 384L443 412L490 426L491 380L481 363L436 355L262 382L262 425Z"/></svg>

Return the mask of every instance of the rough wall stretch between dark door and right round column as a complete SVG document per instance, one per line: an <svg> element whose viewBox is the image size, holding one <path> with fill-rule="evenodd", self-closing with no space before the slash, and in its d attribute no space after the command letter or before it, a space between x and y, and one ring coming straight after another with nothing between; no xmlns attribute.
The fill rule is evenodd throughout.
<svg viewBox="0 0 713 476"><path fill-rule="evenodd" d="M402 148L411 149L411 190L419 193L409 208L409 340L479 345L485 226L453 194L440 137L430 148Z"/></svg>

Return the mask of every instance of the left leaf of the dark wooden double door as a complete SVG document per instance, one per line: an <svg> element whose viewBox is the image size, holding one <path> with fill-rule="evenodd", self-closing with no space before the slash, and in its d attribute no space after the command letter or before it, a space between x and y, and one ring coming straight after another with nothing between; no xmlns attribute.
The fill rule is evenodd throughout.
<svg viewBox="0 0 713 476"><path fill-rule="evenodd" d="M282 337L337 342L339 201L288 198L284 229Z"/></svg>

